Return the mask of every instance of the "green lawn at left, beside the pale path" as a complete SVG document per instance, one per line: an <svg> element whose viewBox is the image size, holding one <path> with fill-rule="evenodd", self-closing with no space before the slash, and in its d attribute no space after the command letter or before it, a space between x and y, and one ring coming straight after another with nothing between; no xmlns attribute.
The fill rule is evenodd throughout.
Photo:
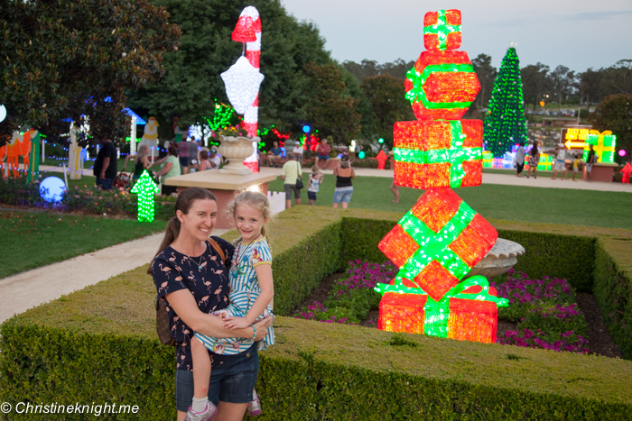
<svg viewBox="0 0 632 421"><path fill-rule="evenodd" d="M0 211L0 278L134 240L164 226L164 221L141 224L52 212Z"/></svg>

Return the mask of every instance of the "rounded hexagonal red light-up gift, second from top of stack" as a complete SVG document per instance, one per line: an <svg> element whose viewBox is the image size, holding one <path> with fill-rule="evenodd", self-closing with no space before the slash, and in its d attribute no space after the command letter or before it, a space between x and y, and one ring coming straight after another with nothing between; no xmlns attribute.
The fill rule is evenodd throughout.
<svg viewBox="0 0 632 421"><path fill-rule="evenodd" d="M460 120L480 84L465 51L423 51L404 88L417 120Z"/></svg>

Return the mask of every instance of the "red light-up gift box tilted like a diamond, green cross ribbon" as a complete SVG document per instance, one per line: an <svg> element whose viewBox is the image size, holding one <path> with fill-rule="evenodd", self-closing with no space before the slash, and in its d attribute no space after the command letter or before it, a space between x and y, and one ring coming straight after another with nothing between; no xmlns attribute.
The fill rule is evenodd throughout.
<svg viewBox="0 0 632 421"><path fill-rule="evenodd" d="M419 288L439 301L485 257L497 236L450 188L435 188L419 198L378 247L400 268L395 290Z"/></svg>

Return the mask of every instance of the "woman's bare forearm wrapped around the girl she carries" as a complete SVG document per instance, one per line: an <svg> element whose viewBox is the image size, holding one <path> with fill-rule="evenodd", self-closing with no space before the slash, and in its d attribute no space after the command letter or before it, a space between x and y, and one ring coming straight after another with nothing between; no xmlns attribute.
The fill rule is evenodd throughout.
<svg viewBox="0 0 632 421"><path fill-rule="evenodd" d="M195 332L216 338L240 337L251 339L253 337L253 329L250 327L250 324L244 329L228 331L222 327L222 319L220 317L202 313L189 289L180 289L164 297L173 308L173 311ZM265 337L267 328L270 325L272 325L272 317L266 317L255 324L257 341Z"/></svg>

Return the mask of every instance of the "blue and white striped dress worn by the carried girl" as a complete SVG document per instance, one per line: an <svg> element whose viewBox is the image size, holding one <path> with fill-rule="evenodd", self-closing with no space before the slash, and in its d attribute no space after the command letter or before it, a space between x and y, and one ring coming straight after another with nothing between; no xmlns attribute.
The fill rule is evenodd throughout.
<svg viewBox="0 0 632 421"><path fill-rule="evenodd" d="M240 243L235 249L230 268L230 292L228 300L230 304L224 310L211 314L222 318L227 316L246 316L250 307L261 294L259 282L256 279L255 268L259 265L272 265L272 252L265 237L255 240L253 243ZM272 307L268 304L264 313L257 320L270 316ZM204 334L195 333L201 343L211 351L218 354L236 354L248 350L252 346L252 340L236 340L236 338L214 338ZM272 325L268 327L268 334L259 342L260 349L266 349L274 345L274 330Z"/></svg>

